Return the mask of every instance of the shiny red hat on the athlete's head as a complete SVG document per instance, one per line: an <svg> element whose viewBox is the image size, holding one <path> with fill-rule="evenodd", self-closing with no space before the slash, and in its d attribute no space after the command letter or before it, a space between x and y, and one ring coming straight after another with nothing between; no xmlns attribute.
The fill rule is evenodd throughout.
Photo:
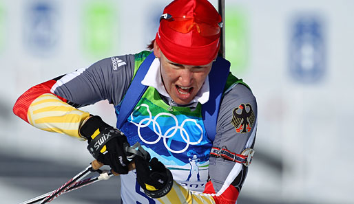
<svg viewBox="0 0 354 204"><path fill-rule="evenodd" d="M169 60L207 65L216 58L222 20L209 1L175 0L163 12L155 39Z"/></svg>

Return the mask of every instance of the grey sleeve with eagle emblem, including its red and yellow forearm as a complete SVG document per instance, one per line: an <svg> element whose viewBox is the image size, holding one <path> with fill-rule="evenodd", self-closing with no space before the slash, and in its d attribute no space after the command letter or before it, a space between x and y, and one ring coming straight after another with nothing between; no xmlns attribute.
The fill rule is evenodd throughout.
<svg viewBox="0 0 354 204"><path fill-rule="evenodd" d="M257 126L257 103L251 91L237 84L225 93L220 106L214 147L227 148L241 154L253 148ZM247 167L241 163L210 157L209 182L204 192L193 192L174 181L161 203L223 203L234 204L247 175Z"/></svg>

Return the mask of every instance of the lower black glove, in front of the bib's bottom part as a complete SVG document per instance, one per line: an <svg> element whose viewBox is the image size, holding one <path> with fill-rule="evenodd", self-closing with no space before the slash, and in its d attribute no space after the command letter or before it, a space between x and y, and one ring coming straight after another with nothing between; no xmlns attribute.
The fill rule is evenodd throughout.
<svg viewBox="0 0 354 204"><path fill-rule="evenodd" d="M149 161L149 159L145 160L136 156L134 161L136 180L147 196L158 199L171 190L174 178L171 172L156 157Z"/></svg>

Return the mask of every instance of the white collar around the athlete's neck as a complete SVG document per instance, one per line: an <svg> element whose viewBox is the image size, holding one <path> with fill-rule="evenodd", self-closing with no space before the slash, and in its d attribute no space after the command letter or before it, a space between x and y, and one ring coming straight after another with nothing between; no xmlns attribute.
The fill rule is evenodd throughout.
<svg viewBox="0 0 354 204"><path fill-rule="evenodd" d="M160 72L160 60L155 58L147 71L145 78L141 81L141 84L149 87L154 87L158 93L164 95L167 98L171 98L167 93L165 86L163 85L163 80L161 79ZM205 104L209 100L209 76L205 78L204 84L196 94L192 102L200 102L200 104Z"/></svg>

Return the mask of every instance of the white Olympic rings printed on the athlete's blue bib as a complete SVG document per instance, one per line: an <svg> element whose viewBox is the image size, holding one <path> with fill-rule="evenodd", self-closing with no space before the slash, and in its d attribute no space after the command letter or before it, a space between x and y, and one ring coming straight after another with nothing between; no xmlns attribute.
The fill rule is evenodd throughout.
<svg viewBox="0 0 354 204"><path fill-rule="evenodd" d="M156 115L154 117L154 119L152 118L152 113L149 110L149 106L147 104L141 104L140 106L136 107L135 111L137 111L138 109L140 109L141 107L145 107L147 109L147 113L149 113L149 117L144 118L143 120L141 120L140 122L136 123L134 122L134 117L133 117L133 113L130 115L130 117L132 117L132 121L130 121L132 124L135 124L138 127L138 135L139 138L144 141L146 144L156 144L158 143L158 141L160 141L161 138L163 138L163 144L165 145L165 147L167 148L167 150L174 152L176 154L185 152L185 150L187 150L187 148L189 147L189 145L197 145L200 144L200 141L202 141L202 135L203 135L203 131L202 131L202 126L200 126L200 124L198 124L196 122L196 120L193 119L186 119L182 122L182 124L180 124L180 126L178 125L178 120L177 117L175 115L172 115L171 113L158 113L158 115ZM167 129L167 131L165 133L163 133L163 131L160 128L160 125L158 124L157 120L158 117L160 116L169 116L174 120L175 126L172 126L171 128ZM198 139L198 141L190 141L189 138L189 134L187 133L187 131L185 130L184 126L187 122L194 122L194 124L196 125L196 127L199 128L200 130L200 138ZM143 138L143 136L140 134L140 129L141 128L146 128L147 126L149 126L149 124L152 123L152 128L154 129L154 132L156 133L156 135L158 135L158 138L155 141L147 141L146 139ZM180 133L183 141L185 141L186 146L185 148L183 148L182 150L172 150L168 145L167 145L167 139L173 139L174 135L176 135L176 133Z"/></svg>

